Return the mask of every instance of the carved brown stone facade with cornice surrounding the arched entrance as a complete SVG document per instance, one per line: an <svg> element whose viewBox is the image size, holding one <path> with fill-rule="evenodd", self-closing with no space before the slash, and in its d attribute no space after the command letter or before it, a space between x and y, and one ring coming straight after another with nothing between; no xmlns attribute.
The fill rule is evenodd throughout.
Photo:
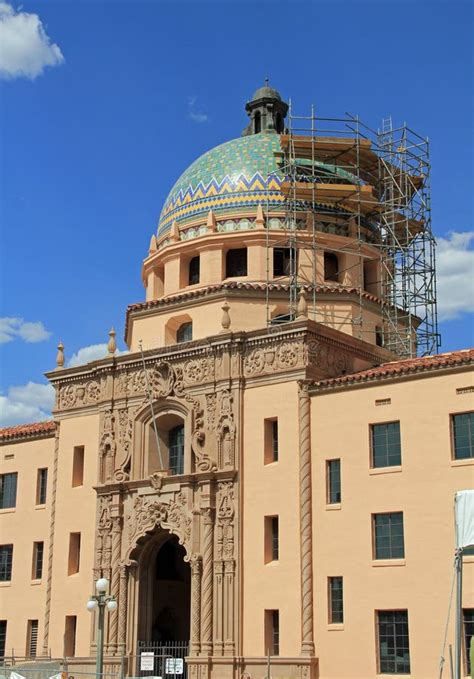
<svg viewBox="0 0 474 679"><path fill-rule="evenodd" d="M174 535L190 568L190 676L213 675L213 663L218 663L219 677L260 672L259 662L239 659L242 403L248 385L299 380L301 655L298 661L287 661L284 674L290 666L298 676L313 673L310 402L305 380L344 373L353 358L306 322L270 335L225 335L172 354L157 350L142 359L110 358L90 376L69 376L67 383L54 373L59 417L91 408L99 417L93 576L110 580L118 602L116 615L108 619L107 654L135 654L139 634L150 630L149 620L140 621L148 605L143 588L148 586L150 549ZM359 360L370 362L371 357L360 354ZM184 474L151 465L153 445L166 446L166 435L163 440L161 434L155 437L153 421L158 428L161 421L183 423Z"/></svg>

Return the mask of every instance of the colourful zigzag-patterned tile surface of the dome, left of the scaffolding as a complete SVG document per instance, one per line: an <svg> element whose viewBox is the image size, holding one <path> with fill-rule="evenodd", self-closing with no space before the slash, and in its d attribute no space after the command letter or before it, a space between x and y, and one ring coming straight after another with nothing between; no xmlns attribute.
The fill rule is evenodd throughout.
<svg viewBox="0 0 474 679"><path fill-rule="evenodd" d="M276 151L281 151L279 136L261 133L232 139L202 155L171 189L161 211L158 237L175 220L194 219L209 210L245 211L259 203L283 209L283 174Z"/></svg>

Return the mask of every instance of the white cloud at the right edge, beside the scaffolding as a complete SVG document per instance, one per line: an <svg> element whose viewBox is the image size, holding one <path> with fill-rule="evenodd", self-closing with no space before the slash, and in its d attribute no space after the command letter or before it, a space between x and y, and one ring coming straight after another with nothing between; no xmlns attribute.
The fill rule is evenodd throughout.
<svg viewBox="0 0 474 679"><path fill-rule="evenodd" d="M438 238L437 290L440 321L474 313L474 231Z"/></svg>

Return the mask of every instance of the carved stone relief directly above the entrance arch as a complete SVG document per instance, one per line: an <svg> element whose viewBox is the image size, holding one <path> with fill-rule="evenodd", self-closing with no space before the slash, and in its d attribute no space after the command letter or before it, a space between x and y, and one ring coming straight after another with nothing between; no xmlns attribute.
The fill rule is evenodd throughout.
<svg viewBox="0 0 474 679"><path fill-rule="evenodd" d="M137 541L155 527L168 530L178 537L179 544L186 549L187 558L191 554L192 515L186 508L184 493L179 492L174 500L160 502L138 495L133 510L127 516L128 556Z"/></svg>

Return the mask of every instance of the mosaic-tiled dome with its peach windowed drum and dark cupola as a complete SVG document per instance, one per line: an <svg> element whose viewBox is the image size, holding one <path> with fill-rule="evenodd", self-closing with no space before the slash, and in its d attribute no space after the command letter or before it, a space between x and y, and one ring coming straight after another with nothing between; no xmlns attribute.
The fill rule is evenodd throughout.
<svg viewBox="0 0 474 679"><path fill-rule="evenodd" d="M266 85L246 110L243 136L198 158L171 189L143 264L146 303L129 308L127 343L132 351L138 336L146 348L173 344L185 322L193 339L218 333L223 302L231 304L233 330L288 318L292 258L310 318L379 343L383 290L374 187L347 165L299 159L295 252L284 159L288 106ZM316 185L304 184L308 163ZM316 210L304 196L313 189ZM174 312L184 300L185 319Z"/></svg>

